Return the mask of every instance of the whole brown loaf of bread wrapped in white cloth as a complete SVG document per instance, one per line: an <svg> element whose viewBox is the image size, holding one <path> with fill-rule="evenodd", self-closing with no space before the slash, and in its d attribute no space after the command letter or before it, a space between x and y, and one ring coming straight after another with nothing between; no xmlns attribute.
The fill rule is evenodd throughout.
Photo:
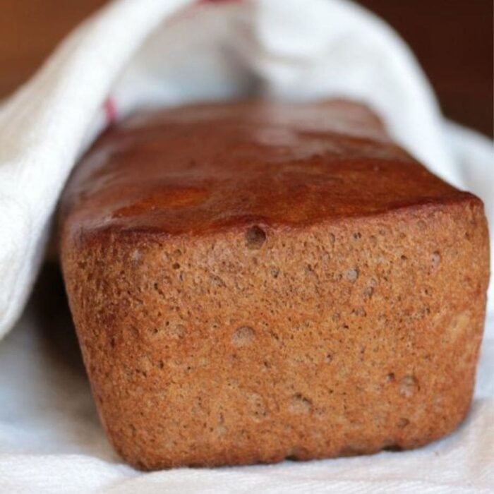
<svg viewBox="0 0 494 494"><path fill-rule="evenodd" d="M360 104L135 114L76 168L60 233L97 409L134 466L414 448L466 414L483 205Z"/></svg>

